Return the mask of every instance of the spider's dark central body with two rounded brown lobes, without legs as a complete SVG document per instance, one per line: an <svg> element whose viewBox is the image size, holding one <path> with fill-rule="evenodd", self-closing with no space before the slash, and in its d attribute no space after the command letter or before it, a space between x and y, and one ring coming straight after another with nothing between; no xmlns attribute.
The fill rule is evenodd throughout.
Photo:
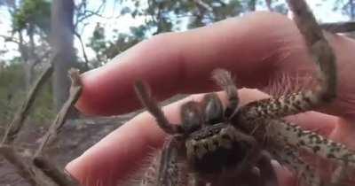
<svg viewBox="0 0 355 186"><path fill-rule="evenodd" d="M253 137L229 125L230 115L225 115L215 94L206 95L201 103L191 101L183 105L181 117L186 158L195 172L218 174L236 170L248 152L256 151Z"/></svg>

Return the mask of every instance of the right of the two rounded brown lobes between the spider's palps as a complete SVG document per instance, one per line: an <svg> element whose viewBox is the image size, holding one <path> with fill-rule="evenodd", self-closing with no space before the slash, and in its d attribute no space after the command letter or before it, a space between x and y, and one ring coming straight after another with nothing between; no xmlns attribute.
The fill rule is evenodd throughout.
<svg viewBox="0 0 355 186"><path fill-rule="evenodd" d="M208 94L203 98L204 118L206 124L215 124L223 120L223 105L216 94Z"/></svg>

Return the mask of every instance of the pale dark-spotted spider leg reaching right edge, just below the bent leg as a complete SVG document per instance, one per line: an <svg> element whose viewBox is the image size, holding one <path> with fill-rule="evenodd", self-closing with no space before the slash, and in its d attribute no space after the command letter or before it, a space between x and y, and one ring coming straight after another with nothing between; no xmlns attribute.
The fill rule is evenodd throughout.
<svg viewBox="0 0 355 186"><path fill-rule="evenodd" d="M355 151L342 143L335 143L285 120L270 120L266 131L275 141L286 143L298 150L308 151L324 159L334 160L340 166L355 168Z"/></svg>

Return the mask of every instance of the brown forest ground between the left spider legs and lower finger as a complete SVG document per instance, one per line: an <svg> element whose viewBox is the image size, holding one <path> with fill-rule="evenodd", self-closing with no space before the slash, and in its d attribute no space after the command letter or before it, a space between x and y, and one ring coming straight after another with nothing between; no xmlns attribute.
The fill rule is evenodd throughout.
<svg viewBox="0 0 355 186"><path fill-rule="evenodd" d="M67 120L59 133L58 140L47 151L48 156L58 167L63 168L69 161L80 156L93 144L98 143L101 138L115 128L119 128L136 114L136 112L131 112L115 117ZM26 123L25 126L21 130L16 145L20 147L21 155L30 156L40 144L46 128L34 128L33 126L39 125L31 125L31 123ZM0 186L30 185L16 173L10 163L0 157Z"/></svg>

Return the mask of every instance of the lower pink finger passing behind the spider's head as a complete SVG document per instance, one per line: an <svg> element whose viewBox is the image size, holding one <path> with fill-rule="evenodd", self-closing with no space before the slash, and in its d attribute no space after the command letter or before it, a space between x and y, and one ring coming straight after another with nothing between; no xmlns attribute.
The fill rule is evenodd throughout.
<svg viewBox="0 0 355 186"><path fill-rule="evenodd" d="M239 95L241 105L268 97L268 95L256 89L240 89ZM163 107L163 111L171 123L179 123L180 105L189 100L201 100L201 97L202 94L186 97ZM224 92L218 92L218 97L222 98L224 104L226 103ZM306 117L302 115L300 117L303 117L302 120L306 125L314 126L314 122L317 122L317 120L312 120L312 117L325 117L324 114L317 116L318 114L312 112ZM330 123L325 124L331 125ZM321 129L319 128L319 130ZM162 130L157 127L154 118L148 112L142 112L95 144L81 157L69 163L66 167L67 171L73 174L75 178L84 180L88 186L93 185L93 182L98 182L98 180L106 186L115 185L117 180L122 181L122 179L138 170L142 162L152 154L152 150L159 149L162 146L165 136ZM282 182L289 182L288 178L285 178Z"/></svg>

